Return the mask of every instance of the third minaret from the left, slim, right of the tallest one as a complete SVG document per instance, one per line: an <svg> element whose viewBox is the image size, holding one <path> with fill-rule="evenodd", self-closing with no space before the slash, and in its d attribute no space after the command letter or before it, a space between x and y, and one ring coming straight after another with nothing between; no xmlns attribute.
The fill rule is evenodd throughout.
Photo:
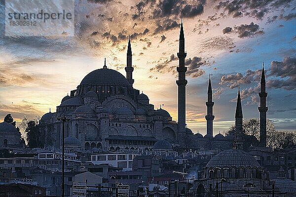
<svg viewBox="0 0 296 197"><path fill-rule="evenodd" d="M208 86L208 101L206 102L207 105L207 135L213 136L213 120L215 116L213 115L213 92L212 92L212 83L211 83L211 76L209 75L209 86Z"/></svg>

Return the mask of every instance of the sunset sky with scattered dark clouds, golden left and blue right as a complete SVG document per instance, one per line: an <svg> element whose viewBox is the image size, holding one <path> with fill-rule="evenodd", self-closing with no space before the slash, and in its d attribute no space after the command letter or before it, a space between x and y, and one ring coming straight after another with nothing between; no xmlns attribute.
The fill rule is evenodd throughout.
<svg viewBox="0 0 296 197"><path fill-rule="evenodd" d="M244 118L259 118L262 62L267 118L277 130L296 129L296 0L76 0L75 36L54 37L4 36L3 10L0 0L1 118L11 113L20 121L55 111L87 73L103 67L104 58L125 76L130 34L134 88L177 120L182 17L186 123L193 132L205 134L209 74L214 134L234 123L238 85Z"/></svg>

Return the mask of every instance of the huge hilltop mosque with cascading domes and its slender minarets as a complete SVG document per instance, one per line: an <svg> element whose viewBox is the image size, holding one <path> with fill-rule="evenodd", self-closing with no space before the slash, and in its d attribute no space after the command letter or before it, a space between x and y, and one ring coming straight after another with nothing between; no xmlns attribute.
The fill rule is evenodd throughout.
<svg viewBox="0 0 296 197"><path fill-rule="evenodd" d="M56 107L56 112L48 112L41 117L39 127L45 133L45 146L60 147L62 145L63 123L58 119L66 118L65 122L65 146L77 150L90 150L92 148L104 151L119 150L151 150L155 142L167 140L172 146L178 146L180 142L189 136L194 139L196 148L206 149L220 148L227 150L232 147L234 141L241 145L242 135L242 107L240 93L238 92L237 107L235 113L235 134L213 136L214 102L212 99L212 85L209 79L207 92L207 134L193 132L186 128L185 122L185 79L187 67L185 66L185 38L183 23L181 23L179 37L178 80L178 122L172 120L170 113L162 108L154 109L149 103L147 95L133 87L132 48L128 40L126 77L116 70L108 68L105 64L102 68L88 73L70 96L61 100ZM263 80L264 78L264 80ZM262 83L264 81L264 84ZM262 70L261 90L262 131L261 139L266 136L266 111L265 107L265 77ZM263 105L262 105L263 104ZM264 108L265 107L265 108ZM260 114L261 114L260 111ZM265 119L264 119L265 112ZM260 126L261 126L260 121ZM265 129L264 129L265 121ZM264 134L265 132L265 134ZM263 146L266 140L262 140Z"/></svg>

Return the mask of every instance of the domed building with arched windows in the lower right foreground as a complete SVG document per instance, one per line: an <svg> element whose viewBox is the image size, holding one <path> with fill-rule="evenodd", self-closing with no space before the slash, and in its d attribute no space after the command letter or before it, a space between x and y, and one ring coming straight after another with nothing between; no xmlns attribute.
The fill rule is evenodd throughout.
<svg viewBox="0 0 296 197"><path fill-rule="evenodd" d="M217 189L223 197L247 197L271 194L269 173L248 153L230 149L213 157L202 171L195 184L197 197L215 196ZM252 187L250 187L252 186Z"/></svg>

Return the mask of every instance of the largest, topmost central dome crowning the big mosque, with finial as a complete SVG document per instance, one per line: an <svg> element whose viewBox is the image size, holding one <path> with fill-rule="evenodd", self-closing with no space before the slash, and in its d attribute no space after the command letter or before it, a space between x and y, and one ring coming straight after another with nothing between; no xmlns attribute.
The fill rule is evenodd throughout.
<svg viewBox="0 0 296 197"><path fill-rule="evenodd" d="M120 72L109 68L101 68L88 73L82 79L80 85L87 84L131 85Z"/></svg>

